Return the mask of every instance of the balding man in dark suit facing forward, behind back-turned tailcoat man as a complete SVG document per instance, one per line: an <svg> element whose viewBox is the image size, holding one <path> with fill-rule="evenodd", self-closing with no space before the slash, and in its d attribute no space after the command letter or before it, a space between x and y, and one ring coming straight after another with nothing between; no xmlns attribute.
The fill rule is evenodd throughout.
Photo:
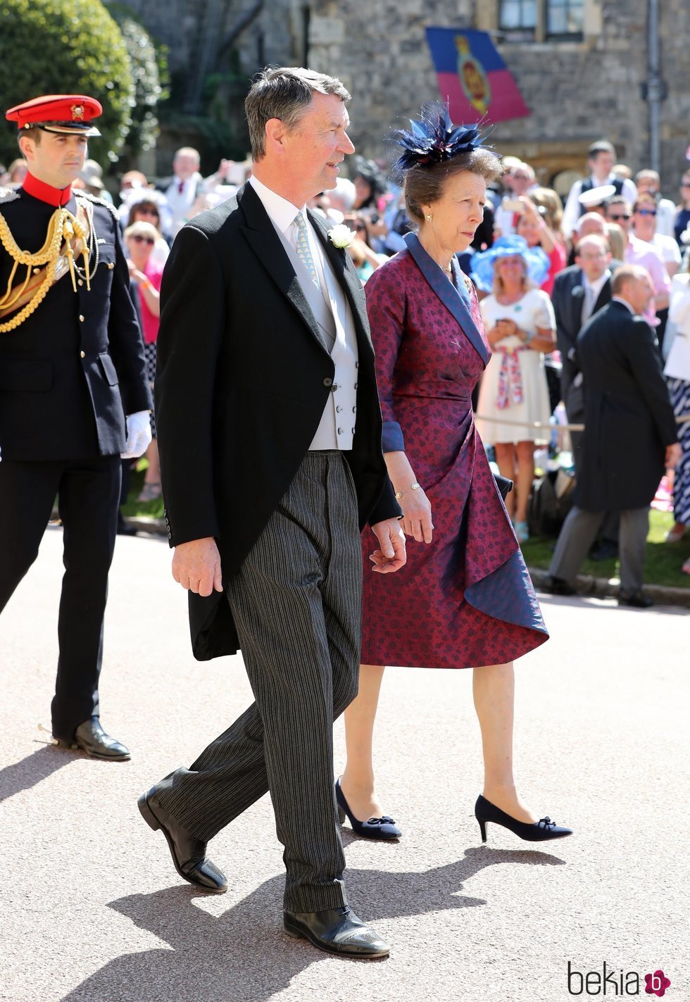
<svg viewBox="0 0 690 1002"><path fill-rule="evenodd" d="M556 276L551 301L556 316L556 341L561 353L561 398L570 424L585 417L583 376L575 354L575 343L590 317L611 300L611 252L603 235L583 236L575 265ZM582 432L570 433L573 460L578 472Z"/></svg>

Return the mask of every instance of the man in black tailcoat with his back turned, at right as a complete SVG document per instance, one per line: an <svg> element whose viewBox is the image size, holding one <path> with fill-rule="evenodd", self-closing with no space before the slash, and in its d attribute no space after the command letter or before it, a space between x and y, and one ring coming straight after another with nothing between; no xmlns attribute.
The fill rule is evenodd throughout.
<svg viewBox="0 0 690 1002"><path fill-rule="evenodd" d="M619 601L647 608L652 601L642 591L642 576L649 505L664 469L680 458L680 445L654 334L641 316L654 298L649 273L624 265L611 292L611 303L577 339L585 387L580 476L545 590L573 594L604 513L619 511Z"/></svg>

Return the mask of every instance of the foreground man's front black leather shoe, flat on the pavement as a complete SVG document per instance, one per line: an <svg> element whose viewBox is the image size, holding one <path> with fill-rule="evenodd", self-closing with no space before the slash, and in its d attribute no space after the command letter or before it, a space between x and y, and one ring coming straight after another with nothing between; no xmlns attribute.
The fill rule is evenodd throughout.
<svg viewBox="0 0 690 1002"><path fill-rule="evenodd" d="M307 939L317 950L356 960L388 957L391 947L344 905L325 912L283 912L288 936Z"/></svg>

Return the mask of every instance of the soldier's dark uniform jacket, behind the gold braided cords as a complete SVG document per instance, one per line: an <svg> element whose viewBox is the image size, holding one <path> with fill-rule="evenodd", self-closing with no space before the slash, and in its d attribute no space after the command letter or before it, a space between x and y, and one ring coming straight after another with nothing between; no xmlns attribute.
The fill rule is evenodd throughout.
<svg viewBox="0 0 690 1002"><path fill-rule="evenodd" d="M98 265L90 291L77 275L75 294L67 274L19 327L0 332L3 460L117 455L124 449L125 415L152 406L115 211L80 191L65 206L72 213L77 198L92 210ZM0 195L0 212L14 240L32 254L43 246L54 211L54 205L21 188ZM83 271L83 259L77 264ZM12 265L0 244L0 298ZM19 266L13 285L25 275Z"/></svg>

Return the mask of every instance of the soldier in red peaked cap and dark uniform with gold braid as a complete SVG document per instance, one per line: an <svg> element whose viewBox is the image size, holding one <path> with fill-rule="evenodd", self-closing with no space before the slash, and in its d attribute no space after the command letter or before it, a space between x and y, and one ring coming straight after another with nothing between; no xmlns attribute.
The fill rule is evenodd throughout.
<svg viewBox="0 0 690 1002"><path fill-rule="evenodd" d="M151 397L117 216L72 190L102 111L82 95L10 108L28 164L0 189L0 610L33 563L56 496L65 575L53 739L129 759L100 725L103 614L120 454L150 442Z"/></svg>

